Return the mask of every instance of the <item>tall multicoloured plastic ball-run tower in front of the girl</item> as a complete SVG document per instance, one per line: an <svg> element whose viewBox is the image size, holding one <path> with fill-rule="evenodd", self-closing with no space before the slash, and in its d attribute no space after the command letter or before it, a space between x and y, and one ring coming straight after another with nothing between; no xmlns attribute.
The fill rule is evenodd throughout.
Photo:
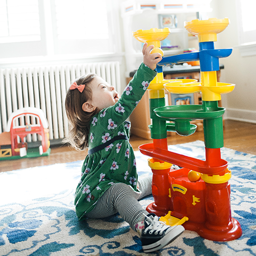
<svg viewBox="0 0 256 256"><path fill-rule="evenodd" d="M242 235L242 229L231 216L231 171L223 160L220 148L223 142L223 114L218 107L221 94L233 91L234 84L217 82L219 58L231 55L232 49L214 49L217 33L225 30L228 19L193 20L185 28L198 36L199 51L163 57L157 64L157 76L148 86L153 143L139 146L140 152L151 156L148 164L153 172L154 202L147 210L162 216L169 225L183 225L200 236L213 241L230 241ZM152 52L163 52L160 41L169 35L169 29L138 30L134 37L154 45ZM197 80L164 80L163 66L200 61L201 82ZM202 94L202 105L165 105L164 90L170 93ZM205 160L170 152L167 149L167 131L189 136L196 130L193 119L204 122ZM172 121L166 122L166 121ZM181 166L172 170L172 164Z"/></svg>

